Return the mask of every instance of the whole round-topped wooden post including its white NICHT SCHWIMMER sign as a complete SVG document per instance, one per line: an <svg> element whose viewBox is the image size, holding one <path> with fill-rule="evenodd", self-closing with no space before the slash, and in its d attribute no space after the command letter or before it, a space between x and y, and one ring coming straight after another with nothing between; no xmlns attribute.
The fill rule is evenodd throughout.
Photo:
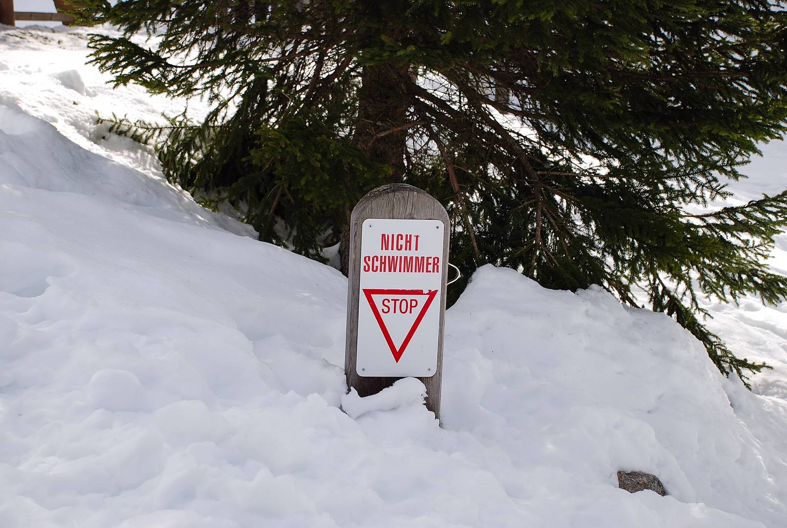
<svg viewBox="0 0 787 528"><path fill-rule="evenodd" d="M418 378L440 418L448 213L405 183L372 190L350 218L347 386L361 397Z"/></svg>

